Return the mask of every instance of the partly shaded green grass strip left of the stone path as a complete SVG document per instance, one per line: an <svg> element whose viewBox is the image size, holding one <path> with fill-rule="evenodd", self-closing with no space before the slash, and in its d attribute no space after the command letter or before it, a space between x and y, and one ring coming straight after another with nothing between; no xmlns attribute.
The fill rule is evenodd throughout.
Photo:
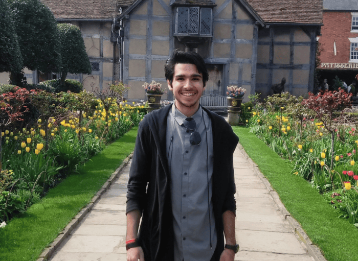
<svg viewBox="0 0 358 261"><path fill-rule="evenodd" d="M132 128L0 229L0 260L36 260L133 151L137 130Z"/></svg>

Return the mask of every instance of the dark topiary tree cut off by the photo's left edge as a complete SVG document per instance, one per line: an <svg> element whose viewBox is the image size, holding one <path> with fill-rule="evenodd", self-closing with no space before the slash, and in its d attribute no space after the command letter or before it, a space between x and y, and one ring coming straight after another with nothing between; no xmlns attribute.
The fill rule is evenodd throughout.
<svg viewBox="0 0 358 261"><path fill-rule="evenodd" d="M23 57L15 33L15 23L6 0L0 0L0 73L21 72Z"/></svg>

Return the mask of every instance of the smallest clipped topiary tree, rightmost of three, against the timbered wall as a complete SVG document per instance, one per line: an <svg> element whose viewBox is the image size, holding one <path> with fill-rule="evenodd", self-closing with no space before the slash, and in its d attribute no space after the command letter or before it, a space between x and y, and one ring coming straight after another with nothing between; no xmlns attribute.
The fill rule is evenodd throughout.
<svg viewBox="0 0 358 261"><path fill-rule="evenodd" d="M91 74L92 68L80 29L70 23L60 23L57 27L61 42L61 84L65 86L68 73Z"/></svg>

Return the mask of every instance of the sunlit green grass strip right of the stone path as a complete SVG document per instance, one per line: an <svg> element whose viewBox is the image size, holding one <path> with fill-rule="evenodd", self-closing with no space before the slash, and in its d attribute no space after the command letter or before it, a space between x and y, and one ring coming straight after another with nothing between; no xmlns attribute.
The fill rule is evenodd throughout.
<svg viewBox="0 0 358 261"><path fill-rule="evenodd" d="M282 203L328 261L358 260L358 229L338 213L289 164L246 127L233 127L240 144L277 191Z"/></svg>

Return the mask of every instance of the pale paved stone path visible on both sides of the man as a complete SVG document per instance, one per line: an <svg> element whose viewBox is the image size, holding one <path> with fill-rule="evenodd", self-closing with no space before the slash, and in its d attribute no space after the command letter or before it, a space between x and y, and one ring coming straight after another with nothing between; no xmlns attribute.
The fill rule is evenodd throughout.
<svg viewBox="0 0 358 261"><path fill-rule="evenodd" d="M325 260L289 216L270 183L238 145L234 153L240 261ZM130 161L70 232L44 251L51 261L125 261L125 201ZM70 224L71 225L71 224ZM70 226L69 225L69 226ZM66 228L68 229L68 228ZM61 242L62 241L62 242ZM44 256L44 255L42 255ZM46 257L46 256L45 256ZM39 260L45 258L40 258ZM165 260L170 261L170 260Z"/></svg>

